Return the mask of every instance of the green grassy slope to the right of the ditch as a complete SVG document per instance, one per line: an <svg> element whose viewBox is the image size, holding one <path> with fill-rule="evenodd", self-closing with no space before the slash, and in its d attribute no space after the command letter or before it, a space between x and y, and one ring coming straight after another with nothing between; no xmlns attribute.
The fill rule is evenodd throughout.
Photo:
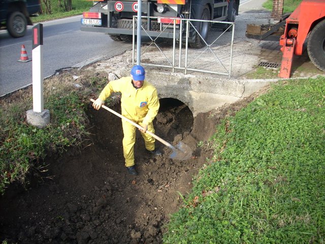
<svg viewBox="0 0 325 244"><path fill-rule="evenodd" d="M324 94L284 81L225 118L164 243L324 243Z"/></svg>

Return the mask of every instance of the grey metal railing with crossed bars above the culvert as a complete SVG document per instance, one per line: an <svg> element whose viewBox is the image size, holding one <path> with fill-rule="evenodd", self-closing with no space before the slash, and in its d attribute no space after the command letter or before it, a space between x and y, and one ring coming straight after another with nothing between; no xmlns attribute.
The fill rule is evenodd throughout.
<svg viewBox="0 0 325 244"><path fill-rule="evenodd" d="M147 23L150 23L151 19L158 19L157 17L147 17L143 16L142 19L147 18ZM136 21L137 16L134 16L133 18L133 64L136 63L135 60L135 34L136 34ZM180 24L176 24L176 21L180 21ZM193 24L194 22L209 22L212 24L222 24L222 25L228 25L224 31L218 35L216 38L214 37L213 40L205 40L198 29L196 28L196 25ZM185 24L184 24L185 23ZM182 48L183 43L183 28L186 26L185 29L185 58L183 58L183 52L184 48ZM178 26L178 30L176 30L176 27ZM173 27L173 48L172 53L171 48L161 48L157 44L157 40L161 38L160 36L164 32L171 32L171 27ZM179 19L179 18L171 18L171 22L169 24L163 25L160 23L160 34L155 34L155 37L150 36L150 31L147 31L146 28L144 28L143 25L141 25L142 28L142 35L148 36L151 40L151 43L146 47L143 46L144 51L141 52L141 64L146 66L155 66L155 67L165 67L165 68L171 68L173 72L175 72L175 69L183 70L184 74L187 74L188 71L194 71L194 72L203 72L203 73L211 73L211 74L219 74L219 75L228 75L229 78L231 78L231 70L232 70L232 62L233 62L233 45L234 45L234 34L235 34L235 23L234 22L222 22L222 21L211 21L211 20L194 20L194 19ZM196 35L199 35L201 40L204 43L204 47L201 49L189 49L189 36L190 36L190 28L195 32ZM227 31L232 30L231 38L229 38L229 35L225 35ZM211 31L212 29L210 29ZM210 33L211 34L211 33ZM211 35L210 35L211 36ZM228 36L228 37L225 37ZM179 41L179 47L178 47L178 66L176 63L176 40ZM222 41L220 41L222 39ZM229 40L227 40L229 39ZM220 42L217 42L217 41ZM223 42L223 43L222 43ZM153 57L150 56L148 58L145 58L145 54L149 53L149 48L155 47L159 50L159 54L162 55L160 57L156 56L156 62L158 64L154 63ZM229 49L229 50L228 50ZM171 55L171 56L170 56ZM211 58L208 57L208 55L211 56ZM170 57L168 57L170 56ZM163 60L161 60L163 58ZM150 60L149 63L145 62L145 60ZM143 61L143 62L142 62ZM164 64L165 62L165 64ZM229 62L229 65L226 65L226 63ZM210 68L210 69L209 69ZM220 70L221 69L221 70Z"/></svg>

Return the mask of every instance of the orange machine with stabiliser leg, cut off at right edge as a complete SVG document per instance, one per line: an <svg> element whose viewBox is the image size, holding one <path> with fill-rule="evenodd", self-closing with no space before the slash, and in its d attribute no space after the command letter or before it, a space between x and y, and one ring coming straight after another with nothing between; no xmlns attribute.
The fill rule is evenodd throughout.
<svg viewBox="0 0 325 244"><path fill-rule="evenodd" d="M285 21L284 34L280 38L283 55L279 77L290 77L294 54L302 55L308 35L310 60L325 72L325 1L303 0Z"/></svg>

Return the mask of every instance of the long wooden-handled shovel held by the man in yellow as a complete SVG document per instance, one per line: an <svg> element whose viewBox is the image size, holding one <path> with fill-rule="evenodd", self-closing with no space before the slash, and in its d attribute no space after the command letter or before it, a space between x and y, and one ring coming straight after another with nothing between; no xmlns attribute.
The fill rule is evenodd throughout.
<svg viewBox="0 0 325 244"><path fill-rule="evenodd" d="M95 102L95 100L90 99L91 102ZM134 121L124 117L123 115L115 112L114 110L106 107L105 105L102 105L102 108L110 111L111 113L115 114L116 116L126 120L128 123L134 125L135 127L139 128L139 129L143 129L141 126L139 126L138 124L134 123ZM165 141L164 139L156 136L155 134L153 134L150 131L146 131L145 133L149 134L150 136L152 136L153 138L155 138L156 140L160 141L161 143L163 143L165 146L168 146L169 148L171 148L173 150L173 153L169 156L171 159L177 159L177 160L187 160L190 159L192 157L191 154L191 149L189 148L188 145L186 145L183 142L178 142L178 144L175 146L173 146L171 143Z"/></svg>

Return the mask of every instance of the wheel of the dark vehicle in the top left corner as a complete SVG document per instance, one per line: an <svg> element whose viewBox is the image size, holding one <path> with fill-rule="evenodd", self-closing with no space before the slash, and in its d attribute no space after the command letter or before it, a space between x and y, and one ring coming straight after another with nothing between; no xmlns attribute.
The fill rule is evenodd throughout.
<svg viewBox="0 0 325 244"><path fill-rule="evenodd" d="M27 29L26 17L18 11L11 13L7 20L7 29L12 37L23 37Z"/></svg>

